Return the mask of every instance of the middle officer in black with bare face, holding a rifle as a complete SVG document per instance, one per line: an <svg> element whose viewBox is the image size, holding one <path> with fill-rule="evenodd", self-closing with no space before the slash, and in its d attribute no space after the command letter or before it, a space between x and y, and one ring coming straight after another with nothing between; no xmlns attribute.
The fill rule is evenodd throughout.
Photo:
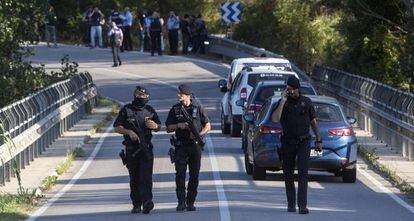
<svg viewBox="0 0 414 221"><path fill-rule="evenodd" d="M198 175L201 164L201 147L195 142L194 136L188 125L183 120L183 111L192 116L193 123L201 137L210 131L210 120L203 108L191 99L190 88L183 84L178 87L177 98L180 101L175 104L168 113L165 122L167 132L174 132L177 138L175 145L175 183L178 198L177 211L195 211L194 202L197 196ZM188 181L187 196L185 193L185 175L189 168L190 179Z"/></svg>

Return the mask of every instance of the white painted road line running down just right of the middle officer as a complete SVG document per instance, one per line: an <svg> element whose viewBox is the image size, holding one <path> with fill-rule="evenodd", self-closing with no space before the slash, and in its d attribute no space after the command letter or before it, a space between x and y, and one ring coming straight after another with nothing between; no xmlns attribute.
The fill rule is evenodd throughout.
<svg viewBox="0 0 414 221"><path fill-rule="evenodd" d="M214 185L216 186L217 197L219 200L220 220L230 221L231 218L230 218L229 205L227 203L226 192L224 191L223 181L221 180L220 169L219 169L216 155L214 153L213 142L211 141L211 137L208 134L206 135L206 144L207 144L208 155L209 155L210 162L211 162L211 169L213 172Z"/></svg>

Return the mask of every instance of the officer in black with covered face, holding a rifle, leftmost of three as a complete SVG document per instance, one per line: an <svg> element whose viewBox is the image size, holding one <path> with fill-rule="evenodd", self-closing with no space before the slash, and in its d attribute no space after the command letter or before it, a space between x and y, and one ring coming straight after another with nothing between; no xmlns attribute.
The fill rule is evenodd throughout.
<svg viewBox="0 0 414 221"><path fill-rule="evenodd" d="M129 172L131 213L148 214L153 208L152 172L154 164L152 131L159 131L161 122L154 108L147 105L147 89L137 86L134 100L125 105L115 120L115 132L124 135L126 146L126 166ZM141 148L141 149L140 149Z"/></svg>

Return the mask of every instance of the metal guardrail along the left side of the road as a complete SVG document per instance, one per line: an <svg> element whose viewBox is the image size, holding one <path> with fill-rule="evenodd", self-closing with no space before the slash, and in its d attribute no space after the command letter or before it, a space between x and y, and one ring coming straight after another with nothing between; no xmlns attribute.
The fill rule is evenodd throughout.
<svg viewBox="0 0 414 221"><path fill-rule="evenodd" d="M0 185L15 174L12 159L24 169L96 104L96 87L89 73L55 83L0 110Z"/></svg>

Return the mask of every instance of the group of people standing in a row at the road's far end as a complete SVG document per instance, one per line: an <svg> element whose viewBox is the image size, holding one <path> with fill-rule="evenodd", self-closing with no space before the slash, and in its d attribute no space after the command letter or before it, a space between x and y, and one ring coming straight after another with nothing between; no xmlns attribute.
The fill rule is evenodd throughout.
<svg viewBox="0 0 414 221"><path fill-rule="evenodd" d="M175 12L171 11L165 23L165 20L156 11L144 11L134 16L131 10L126 7L122 12L113 9L111 15L105 20L104 14L97 7L90 6L83 17L86 26L85 42L91 48L104 46L102 29L108 29L111 32L112 22L115 22L116 27L123 34L122 45L120 46L121 52L133 50L133 34L138 33L139 51L150 51L152 56L155 52L162 55L164 51L163 33L165 32L168 36L171 55L178 53L180 35L183 54L205 52L204 41L207 39L208 32L201 15L184 14L180 18ZM98 39L98 44L96 44L96 39ZM110 36L107 39L108 44L112 46Z"/></svg>

